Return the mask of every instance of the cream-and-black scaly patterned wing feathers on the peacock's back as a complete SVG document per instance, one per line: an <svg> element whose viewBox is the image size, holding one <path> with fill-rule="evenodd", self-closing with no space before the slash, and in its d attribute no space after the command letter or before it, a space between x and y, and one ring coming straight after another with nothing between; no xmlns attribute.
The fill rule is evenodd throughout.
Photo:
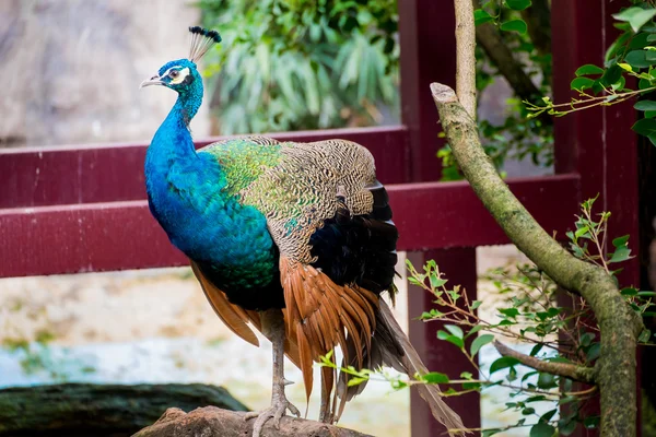
<svg viewBox="0 0 656 437"><path fill-rule="evenodd" d="M372 211L367 187L376 184L374 160L344 140L277 146L277 164L262 169L241 196L265 214L282 256L311 263L309 237L336 215L339 202L353 215Z"/></svg>

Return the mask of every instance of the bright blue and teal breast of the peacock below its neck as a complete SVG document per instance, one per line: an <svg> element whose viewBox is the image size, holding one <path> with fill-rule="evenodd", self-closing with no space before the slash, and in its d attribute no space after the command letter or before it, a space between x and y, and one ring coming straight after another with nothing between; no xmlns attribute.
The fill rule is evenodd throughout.
<svg viewBox="0 0 656 437"><path fill-rule="evenodd" d="M155 146L157 137L147 153L147 191L151 212L171 243L230 281L238 280L239 286L273 281L278 260L266 217L226 193L225 175L212 156L194 150L184 158L172 156Z"/></svg>

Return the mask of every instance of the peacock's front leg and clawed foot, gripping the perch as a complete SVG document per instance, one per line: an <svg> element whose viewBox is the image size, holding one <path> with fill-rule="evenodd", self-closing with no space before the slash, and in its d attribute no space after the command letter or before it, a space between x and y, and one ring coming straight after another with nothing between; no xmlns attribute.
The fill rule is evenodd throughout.
<svg viewBox="0 0 656 437"><path fill-rule="evenodd" d="M284 394L284 386L289 383L284 379L284 319L282 310L268 309L260 312L262 333L271 340L273 346L273 385L271 390L271 406L259 413L247 413L246 420L257 417L253 425L253 437L259 437L262 427L273 418L273 425L278 429L280 420L289 410L292 414L301 416L298 409L288 401Z"/></svg>

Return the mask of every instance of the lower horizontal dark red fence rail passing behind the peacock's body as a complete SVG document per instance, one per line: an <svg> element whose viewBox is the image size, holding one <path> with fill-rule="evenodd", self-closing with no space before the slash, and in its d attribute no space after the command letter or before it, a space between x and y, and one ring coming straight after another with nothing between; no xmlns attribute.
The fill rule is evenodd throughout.
<svg viewBox="0 0 656 437"><path fill-rule="evenodd" d="M508 181L549 231L562 235L577 211L578 178ZM389 186L399 250L507 241L467 182ZM558 214L554 213L558 211ZM185 265L145 201L0 210L0 277Z"/></svg>

